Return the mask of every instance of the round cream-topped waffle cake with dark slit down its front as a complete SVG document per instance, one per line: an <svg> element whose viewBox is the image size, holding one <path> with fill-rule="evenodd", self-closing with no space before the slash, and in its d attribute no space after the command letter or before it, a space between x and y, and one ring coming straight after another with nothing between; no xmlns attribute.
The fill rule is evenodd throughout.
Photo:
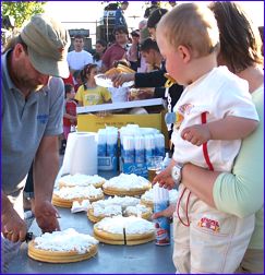
<svg viewBox="0 0 265 275"><path fill-rule="evenodd" d="M106 217L94 225L94 236L104 243L135 246L153 241L155 228L141 217Z"/></svg>

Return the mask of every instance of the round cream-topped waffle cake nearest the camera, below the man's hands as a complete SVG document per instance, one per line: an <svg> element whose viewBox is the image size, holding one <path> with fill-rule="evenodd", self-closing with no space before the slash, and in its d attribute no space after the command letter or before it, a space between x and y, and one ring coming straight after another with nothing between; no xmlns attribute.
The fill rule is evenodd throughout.
<svg viewBox="0 0 265 275"><path fill-rule="evenodd" d="M94 256L98 240L73 228L46 232L28 243L28 256L47 263L71 263Z"/></svg>

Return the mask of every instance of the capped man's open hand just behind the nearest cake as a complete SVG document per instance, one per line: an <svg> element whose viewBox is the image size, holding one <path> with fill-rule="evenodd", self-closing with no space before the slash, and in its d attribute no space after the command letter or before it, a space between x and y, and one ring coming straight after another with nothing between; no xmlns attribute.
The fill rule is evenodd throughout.
<svg viewBox="0 0 265 275"><path fill-rule="evenodd" d="M35 217L43 232L60 230L58 223L59 213L49 201L35 201Z"/></svg>

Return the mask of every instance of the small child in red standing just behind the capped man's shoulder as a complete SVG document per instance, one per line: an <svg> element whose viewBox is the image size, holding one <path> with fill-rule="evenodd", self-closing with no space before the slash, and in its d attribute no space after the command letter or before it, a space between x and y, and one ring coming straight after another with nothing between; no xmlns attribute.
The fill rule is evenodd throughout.
<svg viewBox="0 0 265 275"><path fill-rule="evenodd" d="M65 140L71 131L71 125L76 125L76 106L74 100L75 92L72 84L64 85L65 99L64 99L64 110L63 110L63 133Z"/></svg>

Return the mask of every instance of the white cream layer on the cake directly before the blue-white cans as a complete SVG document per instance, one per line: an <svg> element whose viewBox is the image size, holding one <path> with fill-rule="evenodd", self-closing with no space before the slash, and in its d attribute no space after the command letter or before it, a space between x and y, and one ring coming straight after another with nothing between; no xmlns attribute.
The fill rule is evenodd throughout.
<svg viewBox="0 0 265 275"><path fill-rule="evenodd" d="M141 176L136 176L135 174L127 175L121 174L118 177L113 177L107 180L104 183L104 188L118 188L122 190L131 190L131 189L143 189L149 187L149 181Z"/></svg>

